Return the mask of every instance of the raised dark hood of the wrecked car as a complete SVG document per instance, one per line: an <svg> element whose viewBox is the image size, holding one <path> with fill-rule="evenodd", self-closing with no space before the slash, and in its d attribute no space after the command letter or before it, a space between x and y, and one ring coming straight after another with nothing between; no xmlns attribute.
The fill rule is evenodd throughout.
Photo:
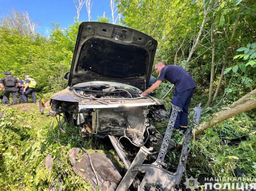
<svg viewBox="0 0 256 191"><path fill-rule="evenodd" d="M101 22L79 26L68 86L111 81L148 87L157 41L140 31Z"/></svg>

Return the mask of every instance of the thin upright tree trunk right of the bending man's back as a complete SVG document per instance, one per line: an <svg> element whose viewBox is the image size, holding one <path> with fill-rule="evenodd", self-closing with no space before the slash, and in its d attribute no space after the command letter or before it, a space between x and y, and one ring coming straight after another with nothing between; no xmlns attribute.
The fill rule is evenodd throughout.
<svg viewBox="0 0 256 191"><path fill-rule="evenodd" d="M215 42L213 36L213 23L214 23L214 16L212 16L212 30L211 30L211 39L212 39L212 66L211 66L211 79L210 79L210 88L209 88L209 98L207 105L210 104L212 101L212 86L213 86L213 75L214 75L214 64L215 64Z"/></svg>

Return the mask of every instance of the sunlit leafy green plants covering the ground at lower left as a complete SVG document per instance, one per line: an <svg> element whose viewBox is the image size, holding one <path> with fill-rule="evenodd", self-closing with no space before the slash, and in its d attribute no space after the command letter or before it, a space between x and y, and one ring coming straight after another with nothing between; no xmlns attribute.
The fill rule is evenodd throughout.
<svg viewBox="0 0 256 191"><path fill-rule="evenodd" d="M63 134L59 135L63 146L55 142L50 129L54 118L41 115L34 104L3 106L0 116L0 190L49 190L59 179L62 189L92 190L83 179L69 172L72 168L66 165L65 158L69 149L78 144ZM54 133L58 135L56 127L54 124ZM78 129L70 131L81 140ZM84 142L84 147L90 145ZM45 165L48 153L54 158L52 171Z"/></svg>

